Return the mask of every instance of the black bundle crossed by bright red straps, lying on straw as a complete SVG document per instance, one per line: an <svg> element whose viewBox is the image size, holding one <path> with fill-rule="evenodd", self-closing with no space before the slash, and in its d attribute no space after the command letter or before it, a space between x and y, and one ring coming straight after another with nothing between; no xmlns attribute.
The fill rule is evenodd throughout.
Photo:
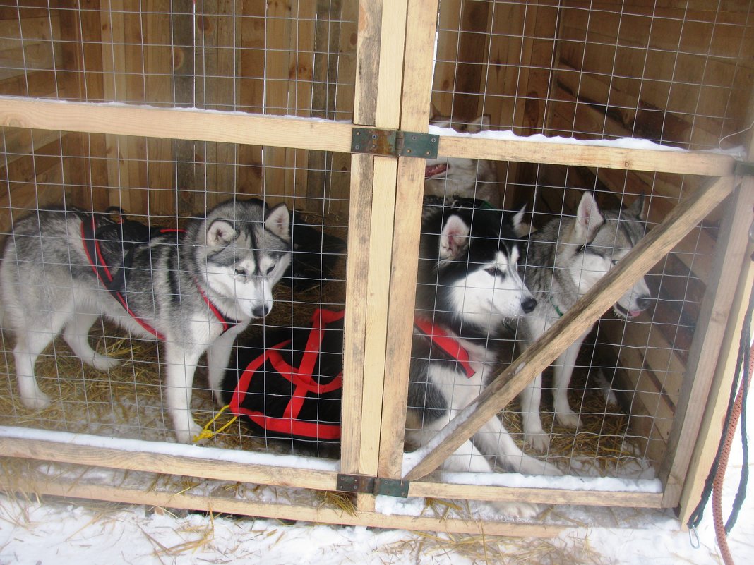
<svg viewBox="0 0 754 565"><path fill-rule="evenodd" d="M343 316L316 310L311 328L268 335L266 349L238 347L230 411L271 438L339 441ZM288 338L276 341L282 335Z"/></svg>

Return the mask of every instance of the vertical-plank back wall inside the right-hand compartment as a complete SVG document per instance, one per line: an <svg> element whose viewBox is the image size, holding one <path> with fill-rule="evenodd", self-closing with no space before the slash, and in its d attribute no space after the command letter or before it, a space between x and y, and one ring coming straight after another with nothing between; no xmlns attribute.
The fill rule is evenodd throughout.
<svg viewBox="0 0 754 565"><path fill-rule="evenodd" d="M557 21L556 6L545 3L442 0L434 108L461 124L489 115L493 129L543 133ZM496 164L504 204L521 203L526 195L509 188L525 184L538 167Z"/></svg>

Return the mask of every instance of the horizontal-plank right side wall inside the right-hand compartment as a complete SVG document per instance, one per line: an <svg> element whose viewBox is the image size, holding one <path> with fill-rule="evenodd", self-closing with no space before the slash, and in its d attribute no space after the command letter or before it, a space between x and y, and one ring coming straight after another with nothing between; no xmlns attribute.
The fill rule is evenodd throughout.
<svg viewBox="0 0 754 565"><path fill-rule="evenodd" d="M637 3L639 4L639 3ZM580 139L642 137L689 149L730 148L743 139L754 63L742 56L754 50L746 5L722 2L720 11L703 2L663 8L611 2L566 2L559 21L559 48L553 69L546 131ZM592 8L589 17L585 9ZM726 136L731 136L724 139ZM721 139L724 139L721 142ZM656 223L703 179L658 173L550 167L542 185L596 188L651 195L648 219ZM550 206L573 209L576 191L553 188ZM634 391L632 410L651 418L636 420L634 431L648 438L647 452L661 460L670 435L688 347L710 279L719 217L711 215L655 267L650 284L660 300L636 322L604 319L598 350L619 356L624 386ZM628 347L626 347L628 346ZM608 351L611 349L612 352Z"/></svg>

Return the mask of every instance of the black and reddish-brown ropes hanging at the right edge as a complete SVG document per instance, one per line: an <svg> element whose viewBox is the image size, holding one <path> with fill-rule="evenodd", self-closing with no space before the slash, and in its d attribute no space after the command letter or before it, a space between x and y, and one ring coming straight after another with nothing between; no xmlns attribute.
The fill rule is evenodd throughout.
<svg viewBox="0 0 754 565"><path fill-rule="evenodd" d="M754 257L752 257L752 260L754 260ZM725 423L722 428L722 438L712 468L710 469L710 475L704 483L704 490L699 505L697 505L697 508L691 513L691 517L688 519L687 524L690 530L696 530L702 520L706 503L710 499L710 494L712 494L713 523L715 525L715 533L720 553L722 554L725 565L734 565L731 551L728 548L727 534L731 532L731 529L736 523L738 512L740 511L741 505L743 505L743 499L746 497L746 485L749 480L749 445L746 440L746 397L749 392L752 372L754 372L754 355L752 355L752 353L754 353L752 352L754 347L752 347L751 342L752 310L754 310L754 287L752 287L752 292L749 296L749 306L746 308L746 315L743 319L743 328L741 329L738 347L738 358L733 383L731 385L731 395L728 399L728 413L725 416ZM739 377L742 369L743 376ZM731 515L725 525L723 525L722 484L725 478L725 469L728 466L731 446L733 444L739 420L742 429L741 444L743 447L743 465L741 468L738 490L731 509Z"/></svg>

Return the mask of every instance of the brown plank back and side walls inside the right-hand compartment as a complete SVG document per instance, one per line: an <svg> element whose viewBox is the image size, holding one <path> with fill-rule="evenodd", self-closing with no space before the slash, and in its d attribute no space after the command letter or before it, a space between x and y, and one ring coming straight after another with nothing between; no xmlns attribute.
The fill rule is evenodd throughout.
<svg viewBox="0 0 754 565"><path fill-rule="evenodd" d="M433 105L462 123L478 115L519 135L577 139L641 137L680 148L730 148L746 130L754 81L747 3L719 11L700 0L654 2L440 2ZM721 142L721 139L723 140ZM581 192L601 206L622 194L651 196L661 221L703 179L577 166L497 163L504 205L532 206L535 224L572 213ZM534 187L537 187L536 202ZM541 218L539 214L541 213ZM635 322L605 317L599 355L620 376L648 453L664 454L701 299L710 277L719 216L694 229L649 277L661 298Z"/></svg>

